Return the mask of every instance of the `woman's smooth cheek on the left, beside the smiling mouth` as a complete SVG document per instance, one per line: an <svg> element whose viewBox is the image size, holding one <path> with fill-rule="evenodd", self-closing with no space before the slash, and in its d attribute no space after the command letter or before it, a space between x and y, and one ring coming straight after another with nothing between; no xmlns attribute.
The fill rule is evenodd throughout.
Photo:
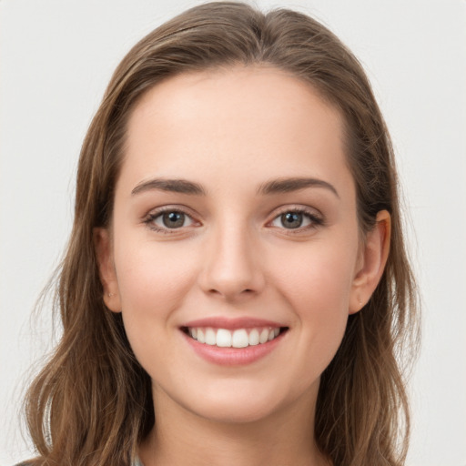
<svg viewBox="0 0 466 466"><path fill-rule="evenodd" d="M150 374L163 376L170 361L177 360L177 349L170 346L170 324L195 275L195 259L185 252L141 238L115 244L127 338L137 360Z"/></svg>

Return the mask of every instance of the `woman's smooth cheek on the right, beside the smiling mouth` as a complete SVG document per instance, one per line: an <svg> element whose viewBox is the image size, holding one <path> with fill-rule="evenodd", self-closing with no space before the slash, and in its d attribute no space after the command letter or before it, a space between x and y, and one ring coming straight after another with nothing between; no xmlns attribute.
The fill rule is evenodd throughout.
<svg viewBox="0 0 466 466"><path fill-rule="evenodd" d="M355 249L325 244L309 247L295 258L289 257L275 277L280 284L280 298L294 312L299 329L301 367L310 378L325 370L343 338L349 314ZM312 373L306 369L309 367L314 368ZM306 382L302 380L302 383Z"/></svg>

